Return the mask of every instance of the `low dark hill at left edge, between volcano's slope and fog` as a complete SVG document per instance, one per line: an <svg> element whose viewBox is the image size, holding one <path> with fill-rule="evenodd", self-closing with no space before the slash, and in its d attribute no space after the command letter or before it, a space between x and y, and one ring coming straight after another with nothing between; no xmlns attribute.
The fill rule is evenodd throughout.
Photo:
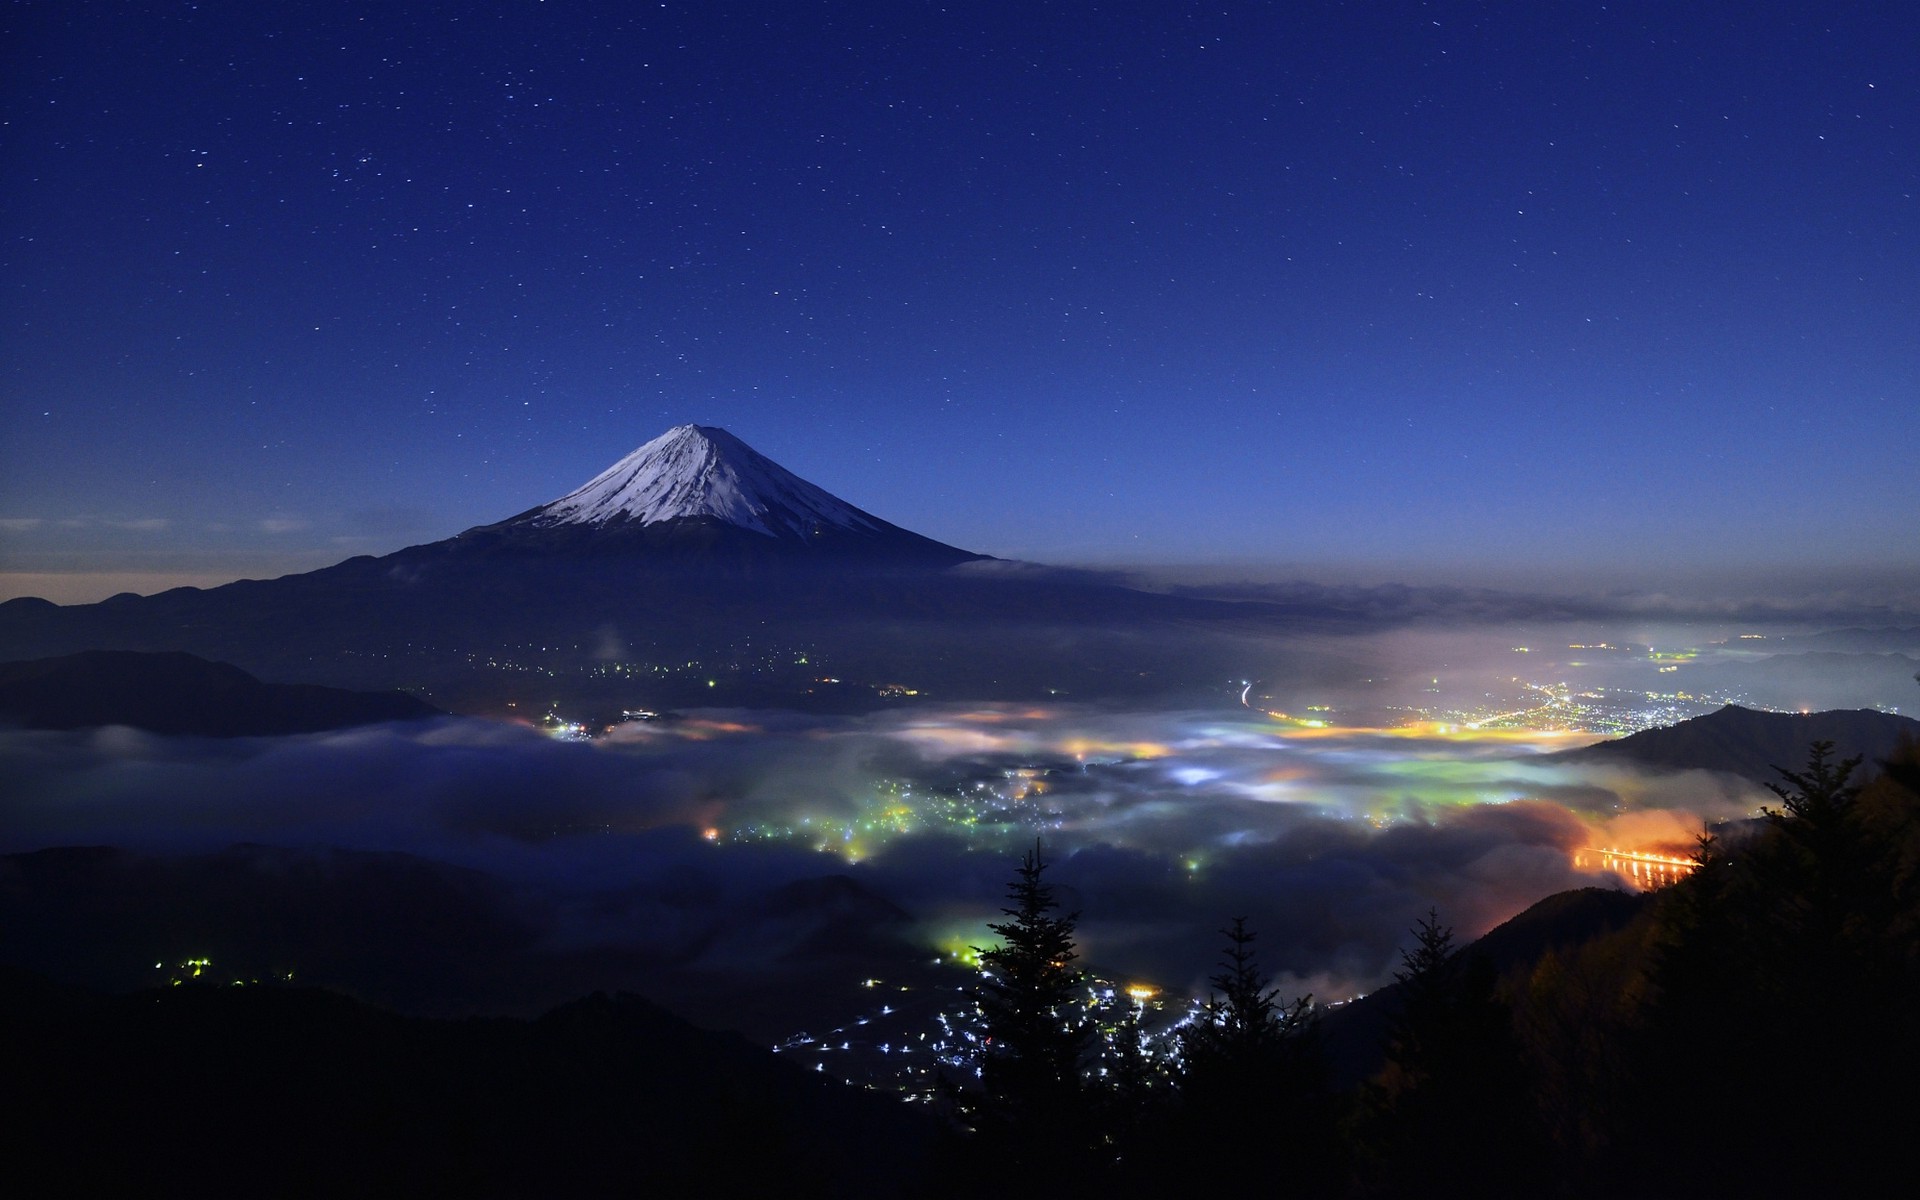
<svg viewBox="0 0 1920 1200"><path fill-rule="evenodd" d="M29 730L134 726L198 737L319 733L444 716L403 691L261 684L186 653L84 651L0 662L0 724Z"/></svg>

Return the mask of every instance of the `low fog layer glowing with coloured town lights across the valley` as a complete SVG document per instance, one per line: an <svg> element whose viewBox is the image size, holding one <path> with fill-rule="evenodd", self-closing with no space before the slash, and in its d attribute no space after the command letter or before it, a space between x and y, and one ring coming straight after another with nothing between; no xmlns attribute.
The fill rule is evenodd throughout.
<svg viewBox="0 0 1920 1200"><path fill-rule="evenodd" d="M672 954L787 881L845 874L929 948L985 945L1035 837L1089 964L1185 987L1246 916L1281 983L1379 985L1428 906L1478 933L1565 887L1588 845L1684 849L1747 814L1699 772L1549 766L1569 737L1212 712L695 712L599 743L478 720L280 739L0 733L0 851L230 843L405 851L480 868L555 948Z"/></svg>

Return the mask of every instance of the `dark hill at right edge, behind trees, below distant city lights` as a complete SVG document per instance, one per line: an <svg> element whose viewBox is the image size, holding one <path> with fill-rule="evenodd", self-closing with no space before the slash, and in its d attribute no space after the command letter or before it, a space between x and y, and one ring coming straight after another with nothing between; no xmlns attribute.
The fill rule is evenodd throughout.
<svg viewBox="0 0 1920 1200"><path fill-rule="evenodd" d="M1676 726L1630 733L1555 756L1667 770L1718 770L1772 783L1780 780L1774 766L1799 770L1807 762L1807 747L1814 741L1832 741L1836 758L1860 755L1874 764L1891 755L1901 737L1920 739L1920 720L1876 708L1757 712L1728 705ZM1872 766L1866 774L1872 774Z"/></svg>

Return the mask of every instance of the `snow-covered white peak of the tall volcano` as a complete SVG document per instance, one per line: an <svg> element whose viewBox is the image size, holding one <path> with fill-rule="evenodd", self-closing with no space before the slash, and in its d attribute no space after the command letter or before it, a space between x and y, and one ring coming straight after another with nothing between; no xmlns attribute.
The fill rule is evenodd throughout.
<svg viewBox="0 0 1920 1200"><path fill-rule="evenodd" d="M881 532L887 522L816 488L733 434L670 428L582 488L526 513L536 528L714 518L768 538Z"/></svg>

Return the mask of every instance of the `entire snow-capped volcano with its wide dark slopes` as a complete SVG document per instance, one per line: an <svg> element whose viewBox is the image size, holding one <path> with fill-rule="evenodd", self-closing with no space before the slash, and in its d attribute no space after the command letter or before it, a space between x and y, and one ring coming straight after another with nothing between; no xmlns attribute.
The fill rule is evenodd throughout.
<svg viewBox="0 0 1920 1200"><path fill-rule="evenodd" d="M1210 660L1196 653L1204 639L1300 616L1327 612L973 555L872 516L724 430L682 426L553 503L444 541L211 589L8 601L0 657L186 651L261 678L405 687L455 710L870 707L887 685L1002 699L1164 691L1242 657Z"/></svg>

